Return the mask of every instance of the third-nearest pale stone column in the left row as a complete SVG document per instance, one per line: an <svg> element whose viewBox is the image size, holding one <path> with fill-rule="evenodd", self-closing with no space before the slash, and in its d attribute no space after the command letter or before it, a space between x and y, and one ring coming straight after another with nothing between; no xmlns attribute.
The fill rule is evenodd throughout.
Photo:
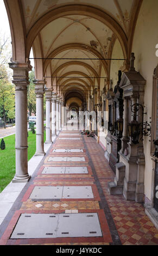
<svg viewBox="0 0 158 256"><path fill-rule="evenodd" d="M46 144L52 143L52 89L46 89Z"/></svg>

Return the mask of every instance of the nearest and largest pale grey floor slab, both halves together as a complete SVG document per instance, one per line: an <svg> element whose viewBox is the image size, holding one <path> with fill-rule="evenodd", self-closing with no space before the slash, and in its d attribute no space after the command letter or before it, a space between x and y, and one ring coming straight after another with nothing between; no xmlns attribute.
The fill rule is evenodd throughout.
<svg viewBox="0 0 158 256"><path fill-rule="evenodd" d="M97 213L21 214L10 239L103 236Z"/></svg>

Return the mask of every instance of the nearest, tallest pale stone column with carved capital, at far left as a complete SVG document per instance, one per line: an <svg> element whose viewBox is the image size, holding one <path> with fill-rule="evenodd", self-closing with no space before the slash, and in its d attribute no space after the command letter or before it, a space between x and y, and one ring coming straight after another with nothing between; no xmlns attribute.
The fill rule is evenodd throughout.
<svg viewBox="0 0 158 256"><path fill-rule="evenodd" d="M15 153L16 173L12 182L28 182L28 142L27 142L27 85L28 72L32 66L28 63L9 63L14 71L15 84Z"/></svg>

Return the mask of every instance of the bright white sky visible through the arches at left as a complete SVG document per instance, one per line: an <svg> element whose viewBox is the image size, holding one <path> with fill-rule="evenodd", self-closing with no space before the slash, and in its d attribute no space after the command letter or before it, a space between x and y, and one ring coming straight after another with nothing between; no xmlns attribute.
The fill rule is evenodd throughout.
<svg viewBox="0 0 158 256"><path fill-rule="evenodd" d="M3 0L0 0L0 35L2 36L3 34L5 34L5 36L10 38L10 48L11 48L11 35L10 35L8 15L7 15L7 11L5 9ZM32 50L30 52L30 58L33 58ZM31 61L31 65L34 66L34 60L31 59L30 61Z"/></svg>

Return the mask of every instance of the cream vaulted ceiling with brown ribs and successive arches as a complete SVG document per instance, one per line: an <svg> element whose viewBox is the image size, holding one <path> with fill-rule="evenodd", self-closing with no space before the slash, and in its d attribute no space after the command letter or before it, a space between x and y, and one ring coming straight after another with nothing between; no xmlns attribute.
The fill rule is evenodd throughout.
<svg viewBox="0 0 158 256"><path fill-rule="evenodd" d="M11 5L10 0L4 2ZM94 77L100 76L102 68L108 76L110 61L104 59L111 57L116 38L122 46L124 58L128 58L132 26L141 2L18 1L26 34L26 57L33 47L34 57L42 58L35 60L36 76L41 73L44 77L49 76L49 87L53 86L65 96L71 95L69 90L75 95L77 90L86 95L99 86L99 78Z"/></svg>

